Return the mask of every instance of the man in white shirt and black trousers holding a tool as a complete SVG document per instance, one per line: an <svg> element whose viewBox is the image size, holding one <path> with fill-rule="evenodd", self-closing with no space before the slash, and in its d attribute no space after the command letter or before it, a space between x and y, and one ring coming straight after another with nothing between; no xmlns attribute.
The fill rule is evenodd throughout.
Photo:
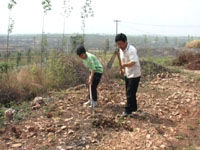
<svg viewBox="0 0 200 150"><path fill-rule="evenodd" d="M137 111L136 93L138 90L141 68L134 46L129 45L125 34L121 33L115 37L115 42L120 48L121 74L125 76L127 103L123 116L128 116Z"/></svg>

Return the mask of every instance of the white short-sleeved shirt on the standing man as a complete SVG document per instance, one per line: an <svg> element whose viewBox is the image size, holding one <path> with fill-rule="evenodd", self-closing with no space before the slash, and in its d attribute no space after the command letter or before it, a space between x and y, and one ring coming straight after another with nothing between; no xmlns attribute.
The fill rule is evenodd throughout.
<svg viewBox="0 0 200 150"><path fill-rule="evenodd" d="M125 76L127 78L137 78L141 76L141 67L140 67L140 61L137 55L137 50L132 45L127 45L127 48L125 51L122 51L120 49L120 58L122 63L129 63L133 61L135 65L132 67L126 67L125 68Z"/></svg>

